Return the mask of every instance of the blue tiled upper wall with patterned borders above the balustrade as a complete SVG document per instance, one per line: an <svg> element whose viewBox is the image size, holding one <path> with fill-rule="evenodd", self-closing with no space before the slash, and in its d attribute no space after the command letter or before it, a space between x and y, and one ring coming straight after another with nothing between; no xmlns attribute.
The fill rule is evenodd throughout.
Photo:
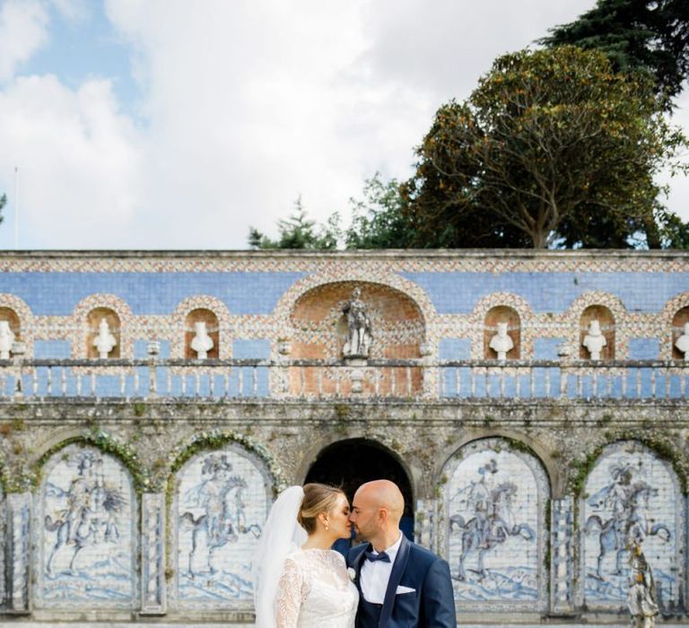
<svg viewBox="0 0 689 628"><path fill-rule="evenodd" d="M87 315L109 308L121 324L121 357L145 357L147 341L156 339L161 357L179 358L185 354L186 317L201 308L218 319L221 358L232 357L235 350L242 357L275 358L278 338L296 343L304 334L301 318L291 315L305 294L338 283L359 284L414 303L422 317L414 335L423 336L432 354L443 359L486 357L484 320L495 307L519 315L521 359L556 359L563 345L571 345L576 357L581 314L592 305L606 307L615 318L615 358L668 359L672 318L689 305L688 262L686 256L642 252L609 259L583 253L513 259L462 253L275 258L7 254L0 257L0 307L19 316L29 357L62 358L67 347L70 357L85 356ZM329 328L327 333L332 335ZM333 344L330 336L322 339L324 346ZM243 340L263 342L241 345Z"/></svg>

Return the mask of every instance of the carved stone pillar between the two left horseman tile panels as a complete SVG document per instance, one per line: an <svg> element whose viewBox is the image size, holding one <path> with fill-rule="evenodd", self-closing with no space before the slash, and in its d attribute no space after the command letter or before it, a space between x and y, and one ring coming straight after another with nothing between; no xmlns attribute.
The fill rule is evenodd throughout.
<svg viewBox="0 0 689 628"><path fill-rule="evenodd" d="M165 615L165 495L144 493L141 502L141 615Z"/></svg>

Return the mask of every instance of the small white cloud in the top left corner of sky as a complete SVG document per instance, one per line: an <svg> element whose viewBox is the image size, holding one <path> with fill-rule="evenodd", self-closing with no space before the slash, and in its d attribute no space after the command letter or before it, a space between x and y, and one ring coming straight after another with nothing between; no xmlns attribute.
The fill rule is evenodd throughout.
<svg viewBox="0 0 689 628"><path fill-rule="evenodd" d="M33 0L5 0L0 7L0 82L48 40L48 9Z"/></svg>

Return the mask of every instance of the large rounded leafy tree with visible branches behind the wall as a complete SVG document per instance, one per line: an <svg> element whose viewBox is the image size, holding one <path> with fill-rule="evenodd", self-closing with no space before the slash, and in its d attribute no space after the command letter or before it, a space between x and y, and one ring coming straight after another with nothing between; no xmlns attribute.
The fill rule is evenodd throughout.
<svg viewBox="0 0 689 628"><path fill-rule="evenodd" d="M648 74L615 73L597 50L523 50L440 107L406 213L435 246L624 247L641 234L658 248L654 176L680 168L685 145Z"/></svg>

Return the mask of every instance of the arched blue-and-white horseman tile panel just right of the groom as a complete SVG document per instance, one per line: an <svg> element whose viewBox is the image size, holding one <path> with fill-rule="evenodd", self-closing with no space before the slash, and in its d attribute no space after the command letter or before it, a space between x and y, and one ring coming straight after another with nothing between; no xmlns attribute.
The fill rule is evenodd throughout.
<svg viewBox="0 0 689 628"><path fill-rule="evenodd" d="M458 610L544 610L550 484L540 460L507 439L475 440L442 476L439 533Z"/></svg>

